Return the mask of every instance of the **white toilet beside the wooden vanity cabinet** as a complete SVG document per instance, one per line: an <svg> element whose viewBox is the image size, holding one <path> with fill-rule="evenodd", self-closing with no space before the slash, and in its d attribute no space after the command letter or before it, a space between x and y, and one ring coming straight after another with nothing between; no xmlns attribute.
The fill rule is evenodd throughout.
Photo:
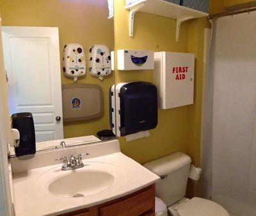
<svg viewBox="0 0 256 216"><path fill-rule="evenodd" d="M202 198L185 198L191 158L183 152L161 157L143 166L161 180L156 183L156 215L229 216L218 203Z"/></svg>

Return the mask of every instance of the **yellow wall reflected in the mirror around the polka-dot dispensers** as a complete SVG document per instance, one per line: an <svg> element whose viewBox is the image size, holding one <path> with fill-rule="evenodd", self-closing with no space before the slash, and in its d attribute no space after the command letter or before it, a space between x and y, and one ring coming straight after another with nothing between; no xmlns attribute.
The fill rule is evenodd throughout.
<svg viewBox="0 0 256 216"><path fill-rule="evenodd" d="M98 131L110 129L108 91L115 83L115 76L112 71L111 75L105 76L101 81L97 77L90 76L88 69L88 53L92 45L106 45L110 51L114 50L114 23L113 19L108 19L108 0L1 1L0 8L3 26L58 27L61 67L61 71L58 73L60 73L62 85L74 83L73 78L67 78L62 73L63 47L68 43L83 45L86 75L78 78L77 83L96 84L102 87L104 114L97 119L64 122L64 138L97 136ZM32 86L29 85L29 88ZM84 142L84 140L76 141ZM94 138L92 141L95 141ZM87 142L90 142L90 139ZM55 144L49 146L49 148L52 147L55 147ZM48 149L46 144L42 150L45 149Z"/></svg>

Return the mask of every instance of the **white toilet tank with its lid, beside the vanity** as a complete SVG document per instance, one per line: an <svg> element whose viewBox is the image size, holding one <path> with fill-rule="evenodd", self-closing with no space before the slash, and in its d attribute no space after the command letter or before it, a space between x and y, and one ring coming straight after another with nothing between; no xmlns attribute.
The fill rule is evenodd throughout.
<svg viewBox="0 0 256 216"><path fill-rule="evenodd" d="M188 155L175 152L143 165L161 177L156 183L156 196L161 198L166 206L171 206L184 198L190 163L191 158Z"/></svg>

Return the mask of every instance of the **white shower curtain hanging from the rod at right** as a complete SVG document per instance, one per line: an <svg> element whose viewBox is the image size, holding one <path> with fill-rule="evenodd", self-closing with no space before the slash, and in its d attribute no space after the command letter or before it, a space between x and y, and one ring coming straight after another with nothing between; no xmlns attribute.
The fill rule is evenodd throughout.
<svg viewBox="0 0 256 216"><path fill-rule="evenodd" d="M202 194L256 215L256 12L212 24L205 80Z"/></svg>

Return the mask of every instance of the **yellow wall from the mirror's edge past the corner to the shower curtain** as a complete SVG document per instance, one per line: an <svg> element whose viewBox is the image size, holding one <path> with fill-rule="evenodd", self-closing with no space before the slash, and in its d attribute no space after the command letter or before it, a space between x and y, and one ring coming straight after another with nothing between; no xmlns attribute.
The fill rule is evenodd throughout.
<svg viewBox="0 0 256 216"><path fill-rule="evenodd" d="M158 110L159 122L150 130L150 137L126 142L120 138L122 152L144 163L181 150L200 162L200 119L202 105L202 32L206 19L185 22L175 41L176 21L170 18L136 13L134 37L129 37L129 13L124 1L115 1L115 50L134 48L144 50L194 52L196 54L195 103L169 110ZM203 34L204 35L204 34ZM115 71L116 83L143 80L153 82L153 71ZM179 93L178 93L179 94ZM196 128L193 128L196 127ZM190 140L192 139L192 140Z"/></svg>

